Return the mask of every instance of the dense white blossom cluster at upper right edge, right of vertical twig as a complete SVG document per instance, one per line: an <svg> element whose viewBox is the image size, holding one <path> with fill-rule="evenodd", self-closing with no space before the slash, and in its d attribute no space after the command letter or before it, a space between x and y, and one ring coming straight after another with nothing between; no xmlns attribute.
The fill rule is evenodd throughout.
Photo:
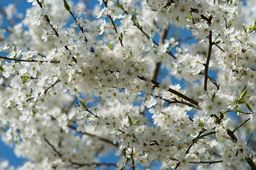
<svg viewBox="0 0 256 170"><path fill-rule="evenodd" d="M225 30L222 41L222 50L216 51L216 59L222 65L230 82L253 83L256 79L254 71L256 46L252 29L254 22L244 24L244 31L234 30L234 27ZM226 36L226 37L224 37Z"/></svg>

